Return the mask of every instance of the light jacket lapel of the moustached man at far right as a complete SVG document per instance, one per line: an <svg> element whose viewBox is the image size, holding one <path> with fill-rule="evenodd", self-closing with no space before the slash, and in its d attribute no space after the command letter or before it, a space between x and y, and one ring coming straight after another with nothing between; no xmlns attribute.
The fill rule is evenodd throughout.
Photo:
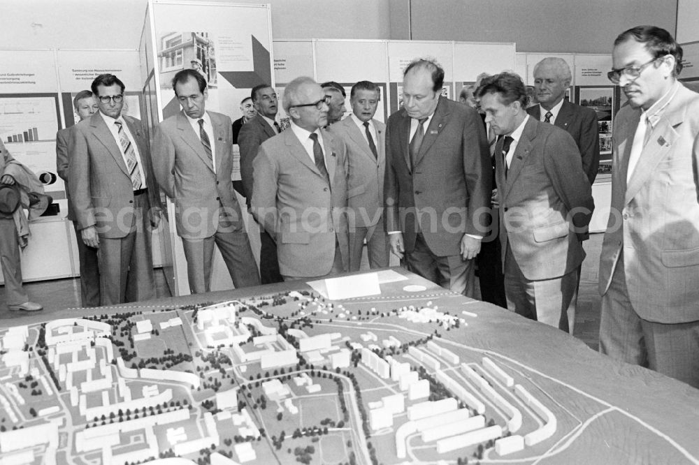
<svg viewBox="0 0 699 465"><path fill-rule="evenodd" d="M675 140L677 140L675 126L682 124L684 115L678 115L676 112L672 113L670 108L665 111L665 115L661 117L656 127L652 129L649 137L647 137L648 142L643 147L641 156L638 158L638 163L633 173L631 173L631 179L628 180L628 184L626 185L626 203L630 202L634 195L638 193L643 183L646 182L646 179L653 174L658 163L663 161L665 156L668 156L672 145L675 143ZM630 132L628 133L629 135L635 134L636 126L637 123L634 125L633 133ZM647 130L649 129L651 129L650 126L647 127ZM629 145L628 152L630 152L631 144L628 143L628 140L633 141L633 136L627 139L627 144ZM628 170L628 157L626 158L625 165L626 170ZM626 173L624 173L624 179L626 179Z"/></svg>

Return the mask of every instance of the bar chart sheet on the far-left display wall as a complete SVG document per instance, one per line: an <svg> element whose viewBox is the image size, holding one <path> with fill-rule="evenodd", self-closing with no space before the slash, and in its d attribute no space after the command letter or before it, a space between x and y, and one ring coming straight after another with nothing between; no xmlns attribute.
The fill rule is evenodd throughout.
<svg viewBox="0 0 699 465"><path fill-rule="evenodd" d="M0 140L4 144L50 142L57 131L54 97L0 96Z"/></svg>

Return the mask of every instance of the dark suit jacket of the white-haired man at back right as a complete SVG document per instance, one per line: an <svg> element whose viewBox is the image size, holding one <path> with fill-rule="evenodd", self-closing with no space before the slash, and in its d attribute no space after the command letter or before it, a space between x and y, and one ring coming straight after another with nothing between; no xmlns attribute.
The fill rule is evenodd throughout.
<svg viewBox="0 0 699 465"><path fill-rule="evenodd" d="M541 105L526 109L529 115L541 120ZM554 121L556 126L568 131L577 144L582 156L582 170L592 185L600 165L600 133L597 124L597 112L592 108L575 105L564 100L561 111Z"/></svg>

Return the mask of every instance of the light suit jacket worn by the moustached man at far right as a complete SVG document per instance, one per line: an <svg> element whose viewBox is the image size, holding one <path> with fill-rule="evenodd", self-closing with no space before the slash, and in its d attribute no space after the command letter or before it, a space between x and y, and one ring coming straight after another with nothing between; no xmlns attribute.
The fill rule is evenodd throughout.
<svg viewBox="0 0 699 465"><path fill-rule="evenodd" d="M699 320L699 94L679 84L626 182L641 110L627 105L612 132L612 207L600 293L624 252L628 298L645 320Z"/></svg>

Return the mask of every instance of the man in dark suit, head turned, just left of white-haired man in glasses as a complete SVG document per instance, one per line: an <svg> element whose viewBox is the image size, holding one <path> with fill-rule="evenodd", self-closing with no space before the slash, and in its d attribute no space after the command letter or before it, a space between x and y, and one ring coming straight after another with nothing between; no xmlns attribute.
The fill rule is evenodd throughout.
<svg viewBox="0 0 699 465"><path fill-rule="evenodd" d="M243 191L250 209L252 200L253 172L252 161L257 156L262 142L277 135L282 130L277 116L277 94L268 84L259 84L250 92L257 116L240 129L238 146L240 146L240 177L243 179ZM279 283L282 275L277 260L277 244L270 233L260 223L260 278L263 284Z"/></svg>

